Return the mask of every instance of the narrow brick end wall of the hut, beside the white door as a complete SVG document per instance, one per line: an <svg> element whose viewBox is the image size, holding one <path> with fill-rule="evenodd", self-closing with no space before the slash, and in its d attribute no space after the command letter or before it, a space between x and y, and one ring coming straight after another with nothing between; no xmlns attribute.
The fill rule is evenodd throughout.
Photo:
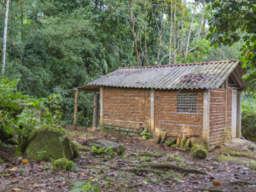
<svg viewBox="0 0 256 192"><path fill-rule="evenodd" d="M210 146L222 144L230 139L231 124L232 89L228 87L210 90Z"/></svg>

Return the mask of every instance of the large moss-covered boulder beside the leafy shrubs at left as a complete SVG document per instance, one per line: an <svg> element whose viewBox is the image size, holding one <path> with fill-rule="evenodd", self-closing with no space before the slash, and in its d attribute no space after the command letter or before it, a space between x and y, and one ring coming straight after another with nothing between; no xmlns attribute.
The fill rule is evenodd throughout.
<svg viewBox="0 0 256 192"><path fill-rule="evenodd" d="M61 129L42 127L32 131L26 145L26 156L33 160L67 158L79 156L79 149Z"/></svg>

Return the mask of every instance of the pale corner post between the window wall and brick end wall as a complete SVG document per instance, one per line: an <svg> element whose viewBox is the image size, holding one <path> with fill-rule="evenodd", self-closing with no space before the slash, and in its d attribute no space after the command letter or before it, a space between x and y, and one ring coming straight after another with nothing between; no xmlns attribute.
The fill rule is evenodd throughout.
<svg viewBox="0 0 256 192"><path fill-rule="evenodd" d="M210 90L204 91L203 140L209 144L210 133Z"/></svg>

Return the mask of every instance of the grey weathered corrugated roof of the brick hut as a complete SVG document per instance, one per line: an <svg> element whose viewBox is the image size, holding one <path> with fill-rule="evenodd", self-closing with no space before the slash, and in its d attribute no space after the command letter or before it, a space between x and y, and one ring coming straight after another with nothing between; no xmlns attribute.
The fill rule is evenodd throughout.
<svg viewBox="0 0 256 192"><path fill-rule="evenodd" d="M166 66L120 67L85 86L153 88L160 90L214 89L230 76L239 61L212 61Z"/></svg>

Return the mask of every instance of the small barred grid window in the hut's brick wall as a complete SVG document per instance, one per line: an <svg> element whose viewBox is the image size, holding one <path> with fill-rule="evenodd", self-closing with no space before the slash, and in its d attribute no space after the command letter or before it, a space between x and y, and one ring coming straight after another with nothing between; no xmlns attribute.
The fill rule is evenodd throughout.
<svg viewBox="0 0 256 192"><path fill-rule="evenodd" d="M177 113L196 113L196 103L196 93L177 93Z"/></svg>

